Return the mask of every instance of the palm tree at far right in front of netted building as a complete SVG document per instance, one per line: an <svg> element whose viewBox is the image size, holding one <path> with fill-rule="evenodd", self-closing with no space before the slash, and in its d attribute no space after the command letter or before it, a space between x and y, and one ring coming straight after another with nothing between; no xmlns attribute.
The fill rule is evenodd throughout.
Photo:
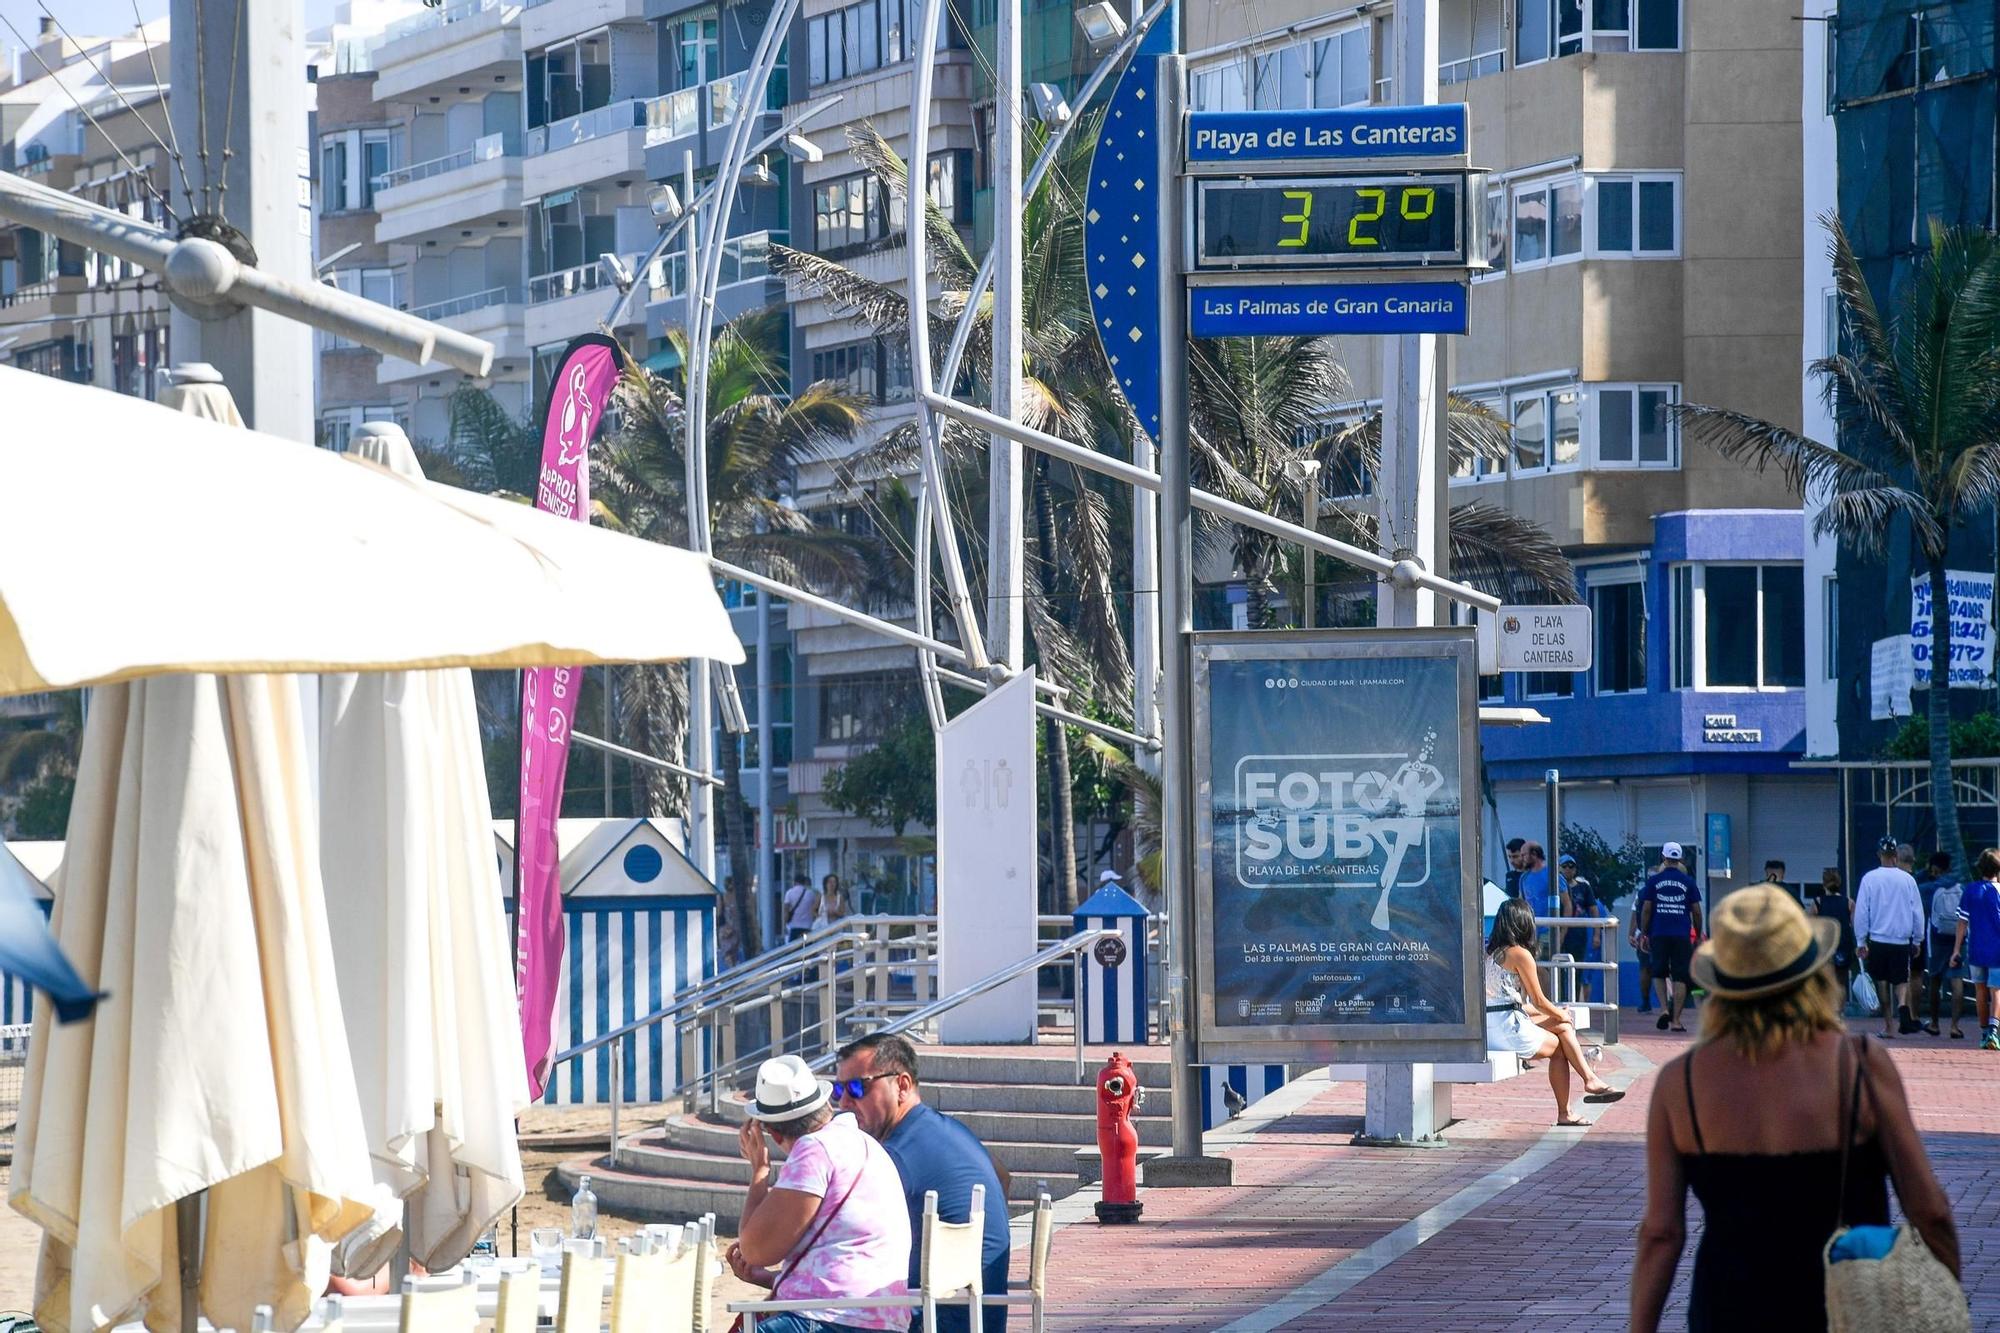
<svg viewBox="0 0 2000 1333"><path fill-rule="evenodd" d="M1930 803L1938 849L1964 869L1952 793L1952 616L1946 558L1952 534L1988 522L2000 496L2000 238L1934 226L1930 250L1884 318L1840 222L1832 230L1834 280L1844 316L1842 348L1812 364L1838 440L1720 406L1684 404L1688 438L1726 458L1776 466L1800 494L1822 496L1814 532L1862 558L1880 558L1892 532L1912 568L1930 578Z"/></svg>

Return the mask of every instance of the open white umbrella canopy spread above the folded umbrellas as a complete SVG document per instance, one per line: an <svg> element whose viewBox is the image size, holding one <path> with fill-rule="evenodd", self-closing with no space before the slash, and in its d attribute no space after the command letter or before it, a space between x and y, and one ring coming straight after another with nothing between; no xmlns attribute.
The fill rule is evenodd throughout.
<svg viewBox="0 0 2000 1333"><path fill-rule="evenodd" d="M0 695L744 660L692 552L26 370L0 402Z"/></svg>

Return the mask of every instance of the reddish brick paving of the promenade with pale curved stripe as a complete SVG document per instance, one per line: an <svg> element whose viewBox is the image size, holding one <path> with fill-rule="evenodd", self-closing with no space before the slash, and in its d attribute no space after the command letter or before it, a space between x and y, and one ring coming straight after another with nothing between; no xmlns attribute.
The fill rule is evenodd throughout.
<svg viewBox="0 0 2000 1333"><path fill-rule="evenodd" d="M1630 1031L1630 1025L1628 1025ZM1856 1027L1860 1031L1860 1027ZM1300 1297L1298 1331L1622 1329L1634 1229L1644 1207L1644 1133L1654 1069L1688 1037L1650 1027L1606 1051L1636 1081L1574 1147L1444 1219L1436 1233L1324 1303ZM1976 1329L2000 1329L2000 1055L1932 1037L1892 1045L1918 1127L1958 1217ZM1506 1167L1548 1135L1536 1071L1456 1089L1444 1149L1358 1149L1360 1085L1328 1085L1232 1151L1230 1189L1142 1191L1136 1227L1074 1223L1056 1235L1050 1323L1058 1329L1280 1327L1272 1301ZM1664 1327L1684 1327L1700 1211ZM1324 1289L1324 1279L1322 1287Z"/></svg>

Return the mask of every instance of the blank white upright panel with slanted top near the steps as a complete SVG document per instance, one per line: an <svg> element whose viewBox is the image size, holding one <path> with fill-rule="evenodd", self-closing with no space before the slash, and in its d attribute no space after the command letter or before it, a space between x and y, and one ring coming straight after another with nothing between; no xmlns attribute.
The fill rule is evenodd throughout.
<svg viewBox="0 0 2000 1333"><path fill-rule="evenodd" d="M938 731L938 995L1036 953L1034 671ZM1034 1041L1036 981L1020 977L938 1017L952 1041Z"/></svg>

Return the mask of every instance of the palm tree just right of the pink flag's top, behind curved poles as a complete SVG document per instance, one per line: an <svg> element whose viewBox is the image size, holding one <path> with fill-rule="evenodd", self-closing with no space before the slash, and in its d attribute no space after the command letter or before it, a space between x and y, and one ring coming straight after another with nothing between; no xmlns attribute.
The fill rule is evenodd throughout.
<svg viewBox="0 0 2000 1333"><path fill-rule="evenodd" d="M784 310L756 310L724 326L710 348L710 536L716 554L732 564L802 588L852 594L870 584L878 566L874 542L816 526L780 496L800 466L824 462L860 432L868 402L832 382L810 384L786 398L782 346ZM686 406L674 386L638 366L626 368L616 402L620 424L594 468L598 516L606 526L686 546ZM618 695L626 735L636 731L640 743L660 755L682 751L684 669L626 669ZM730 905L744 949L754 955L762 943L750 893L750 809L742 797L742 751L734 739L724 741L718 763L730 847Z"/></svg>

